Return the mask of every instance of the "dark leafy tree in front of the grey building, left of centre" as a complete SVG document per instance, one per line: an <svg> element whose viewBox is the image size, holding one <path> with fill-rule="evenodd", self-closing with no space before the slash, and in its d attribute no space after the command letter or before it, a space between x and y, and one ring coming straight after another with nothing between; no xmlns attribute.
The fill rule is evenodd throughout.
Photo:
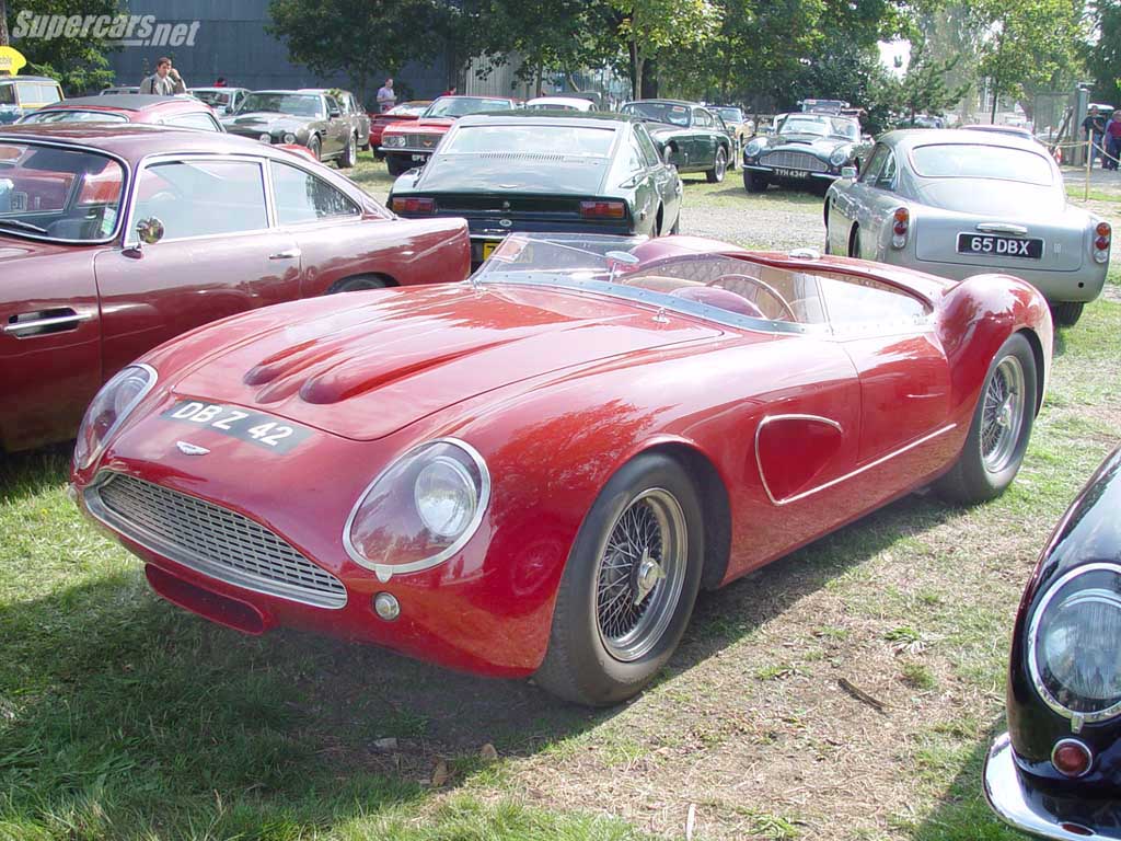
<svg viewBox="0 0 1121 841"><path fill-rule="evenodd" d="M272 0L269 31L285 41L293 62L330 76L344 73L365 101L374 73L396 75L409 61L432 61L447 7L436 0Z"/></svg>

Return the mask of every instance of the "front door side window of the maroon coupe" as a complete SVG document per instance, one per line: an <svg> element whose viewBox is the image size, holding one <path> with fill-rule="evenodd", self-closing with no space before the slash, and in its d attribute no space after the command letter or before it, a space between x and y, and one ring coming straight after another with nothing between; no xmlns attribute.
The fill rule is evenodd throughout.
<svg viewBox="0 0 1121 841"><path fill-rule="evenodd" d="M214 237L269 227L261 165L250 160L152 164L137 183L133 224L156 216L164 240Z"/></svg>

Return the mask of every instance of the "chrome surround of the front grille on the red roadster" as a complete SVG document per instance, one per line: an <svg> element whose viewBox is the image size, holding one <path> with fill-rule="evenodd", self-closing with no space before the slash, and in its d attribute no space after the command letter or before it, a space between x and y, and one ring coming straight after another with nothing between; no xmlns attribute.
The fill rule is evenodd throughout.
<svg viewBox="0 0 1121 841"><path fill-rule="evenodd" d="M324 570L318 564L314 564L309 558L304 558L309 564L314 564L319 570L323 571L325 575L330 575L339 585L343 589L342 599L332 599L327 594L319 594L314 591L304 590L302 588L291 586L280 581L272 581L268 579L259 579L257 576L248 575L244 573L239 573L237 570L231 570L219 564L213 564L202 558L195 557L186 552L183 547L177 546L173 543L165 540L159 535L152 534L143 526L136 523L120 518L111 511L101 499L100 488L108 484L114 475L118 475L114 471L102 471L99 473L93 482L82 492L82 499L85 501L86 510L103 526L108 527L110 530L124 535L130 540L140 544L145 548L155 552L164 557L174 561L177 564L186 566L188 570L194 570L195 572L205 575L206 577L214 579L215 581L221 581L233 586L241 588L242 590L249 590L250 592L261 593L262 595L272 595L277 599L284 599L286 601L297 602L299 604L311 604L315 608L325 608L327 610L342 610L346 607L346 601L349 592L345 585L339 581L337 576L332 575L328 571ZM124 475L124 474L121 474ZM136 477L131 477L136 478ZM143 480L140 480L143 481ZM155 484L155 482L149 482L149 484ZM276 535L279 539L284 540L280 535L277 535L272 529L257 523L256 520L245 517L244 515L239 515L235 511L231 511L216 502L210 502L209 500L202 499L200 497L193 497L189 493L183 493L182 491L173 490L170 488L164 488L163 486L157 486L160 489L168 491L170 493L178 493L183 497L188 497L191 499L196 499L201 502L207 502L215 508L223 508L233 516L243 517L244 519L259 526L261 529ZM287 540L284 540L287 544ZM290 544L289 544L290 546ZM294 552L298 551L293 547ZM303 555L300 554L300 557Z"/></svg>

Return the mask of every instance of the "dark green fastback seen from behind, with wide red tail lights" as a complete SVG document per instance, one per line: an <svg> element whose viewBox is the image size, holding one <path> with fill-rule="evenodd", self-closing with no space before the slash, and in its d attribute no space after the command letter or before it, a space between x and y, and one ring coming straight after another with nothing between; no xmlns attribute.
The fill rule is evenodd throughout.
<svg viewBox="0 0 1121 841"><path fill-rule="evenodd" d="M400 216L464 216L479 265L515 231L676 233L682 179L641 121L506 111L460 119L424 169L393 184Z"/></svg>

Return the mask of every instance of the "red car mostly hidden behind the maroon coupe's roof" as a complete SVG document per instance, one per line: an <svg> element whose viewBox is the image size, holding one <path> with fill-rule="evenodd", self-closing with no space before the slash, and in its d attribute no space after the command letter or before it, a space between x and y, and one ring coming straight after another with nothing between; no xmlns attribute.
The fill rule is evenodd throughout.
<svg viewBox="0 0 1121 841"><path fill-rule="evenodd" d="M147 93L118 93L80 96L40 108L18 124L59 122L143 122L201 131L225 131L214 110L194 96L154 96Z"/></svg>

